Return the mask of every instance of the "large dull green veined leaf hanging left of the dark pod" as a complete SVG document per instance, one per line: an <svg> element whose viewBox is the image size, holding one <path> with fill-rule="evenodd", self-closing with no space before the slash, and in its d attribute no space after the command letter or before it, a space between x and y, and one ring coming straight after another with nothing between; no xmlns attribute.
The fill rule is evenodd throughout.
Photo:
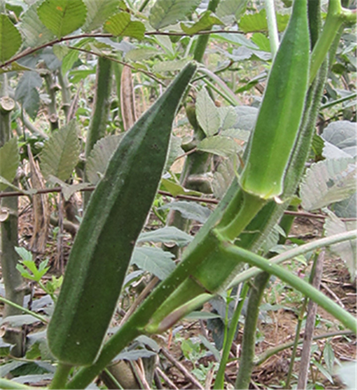
<svg viewBox="0 0 357 390"><path fill-rule="evenodd" d="M46 178L53 175L62 181L69 179L77 164L79 152L80 143L73 120L46 141L41 153L43 175Z"/></svg>

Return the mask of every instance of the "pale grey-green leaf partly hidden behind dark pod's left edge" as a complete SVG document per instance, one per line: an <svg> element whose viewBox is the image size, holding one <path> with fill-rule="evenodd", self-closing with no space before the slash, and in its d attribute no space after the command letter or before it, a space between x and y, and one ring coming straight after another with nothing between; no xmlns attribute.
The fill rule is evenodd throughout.
<svg viewBox="0 0 357 390"><path fill-rule="evenodd" d="M86 162L86 176L92 184L97 184L105 174L108 161L117 149L124 134L108 135L99 139L91 150Z"/></svg>

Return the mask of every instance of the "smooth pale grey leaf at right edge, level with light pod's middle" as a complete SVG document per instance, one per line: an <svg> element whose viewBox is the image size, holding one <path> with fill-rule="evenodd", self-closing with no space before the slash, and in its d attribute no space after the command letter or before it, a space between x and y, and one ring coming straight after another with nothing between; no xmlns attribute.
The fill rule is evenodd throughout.
<svg viewBox="0 0 357 390"><path fill-rule="evenodd" d="M344 153L352 157L356 156L357 135L355 122L332 122L323 130L321 136L325 141L329 142L329 144L336 146ZM329 144L325 144L323 150L323 156L326 158L331 158L331 147L329 148Z"/></svg>

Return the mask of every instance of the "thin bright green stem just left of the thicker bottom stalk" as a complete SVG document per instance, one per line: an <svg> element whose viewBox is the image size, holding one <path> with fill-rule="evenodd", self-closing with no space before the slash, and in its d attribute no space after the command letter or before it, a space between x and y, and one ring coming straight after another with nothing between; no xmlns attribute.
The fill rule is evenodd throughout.
<svg viewBox="0 0 357 390"><path fill-rule="evenodd" d="M227 340L226 340L224 347L223 347L222 358L221 358L220 365L218 368L216 381L215 381L215 384L213 387L213 389L215 389L215 390L224 388L224 374L225 374L225 369L226 369L226 365L228 362L229 352L231 350L232 343L234 341L236 329L237 329L238 322L239 322L240 312L241 312L241 309L243 307L243 303L244 303L244 300L245 300L245 297L247 295L248 290L249 290L248 284L244 283L242 290L241 290L241 293L240 293L240 296L239 296L239 303L237 305L237 308L236 308L236 310L233 314L232 320L231 320L231 326L229 327L228 337L227 337Z"/></svg>

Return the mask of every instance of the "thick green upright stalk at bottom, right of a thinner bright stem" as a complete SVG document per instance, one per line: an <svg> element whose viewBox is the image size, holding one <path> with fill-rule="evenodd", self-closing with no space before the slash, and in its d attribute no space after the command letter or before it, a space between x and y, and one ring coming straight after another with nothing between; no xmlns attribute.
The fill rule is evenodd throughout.
<svg viewBox="0 0 357 390"><path fill-rule="evenodd" d="M265 260L266 261L266 260ZM250 288L248 308L244 322L244 333L239 359L239 371L236 380L236 389L248 389L251 372L253 369L253 359L255 350L255 332L259 316L260 301L263 296L265 286L270 278L270 273L259 273Z"/></svg>

